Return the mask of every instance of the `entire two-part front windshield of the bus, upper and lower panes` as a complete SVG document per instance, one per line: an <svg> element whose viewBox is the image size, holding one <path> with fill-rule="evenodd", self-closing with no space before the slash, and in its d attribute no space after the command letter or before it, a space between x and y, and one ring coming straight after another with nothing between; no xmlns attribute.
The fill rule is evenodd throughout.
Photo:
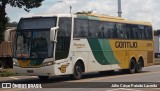
<svg viewBox="0 0 160 91"><path fill-rule="evenodd" d="M51 21L52 20L52 21ZM43 23L41 24L41 22ZM45 22L45 23L44 23ZM15 58L51 58L53 43L50 28L56 24L55 18L23 19L18 25L14 44Z"/></svg>

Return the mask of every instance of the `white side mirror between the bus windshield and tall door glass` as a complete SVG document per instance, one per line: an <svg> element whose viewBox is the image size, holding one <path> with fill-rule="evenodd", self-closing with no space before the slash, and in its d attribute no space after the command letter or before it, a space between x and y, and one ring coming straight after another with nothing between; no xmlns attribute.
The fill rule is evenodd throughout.
<svg viewBox="0 0 160 91"><path fill-rule="evenodd" d="M59 27L53 27L50 30L50 41L57 42L57 31Z"/></svg>

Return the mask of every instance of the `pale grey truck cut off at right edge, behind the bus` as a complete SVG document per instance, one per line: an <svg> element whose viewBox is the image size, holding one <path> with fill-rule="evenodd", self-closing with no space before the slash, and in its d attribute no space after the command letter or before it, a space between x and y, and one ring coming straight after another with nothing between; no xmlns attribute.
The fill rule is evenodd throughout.
<svg viewBox="0 0 160 91"><path fill-rule="evenodd" d="M154 36L155 58L160 58L160 36Z"/></svg>

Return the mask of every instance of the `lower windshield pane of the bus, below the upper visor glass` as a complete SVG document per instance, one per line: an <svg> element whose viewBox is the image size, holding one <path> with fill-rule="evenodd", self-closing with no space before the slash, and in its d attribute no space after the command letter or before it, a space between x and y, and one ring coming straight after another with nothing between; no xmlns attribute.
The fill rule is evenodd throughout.
<svg viewBox="0 0 160 91"><path fill-rule="evenodd" d="M15 57L49 58L53 55L50 31L18 32Z"/></svg>

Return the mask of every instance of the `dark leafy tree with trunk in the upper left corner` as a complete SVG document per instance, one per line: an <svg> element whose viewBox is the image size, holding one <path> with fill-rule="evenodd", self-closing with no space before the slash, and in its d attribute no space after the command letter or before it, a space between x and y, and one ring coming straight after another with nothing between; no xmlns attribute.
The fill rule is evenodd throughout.
<svg viewBox="0 0 160 91"><path fill-rule="evenodd" d="M44 0L0 0L0 43L4 40L4 31L6 30L6 24L8 22L6 5L9 4L12 7L23 8L29 12L30 9L41 6L42 1Z"/></svg>

